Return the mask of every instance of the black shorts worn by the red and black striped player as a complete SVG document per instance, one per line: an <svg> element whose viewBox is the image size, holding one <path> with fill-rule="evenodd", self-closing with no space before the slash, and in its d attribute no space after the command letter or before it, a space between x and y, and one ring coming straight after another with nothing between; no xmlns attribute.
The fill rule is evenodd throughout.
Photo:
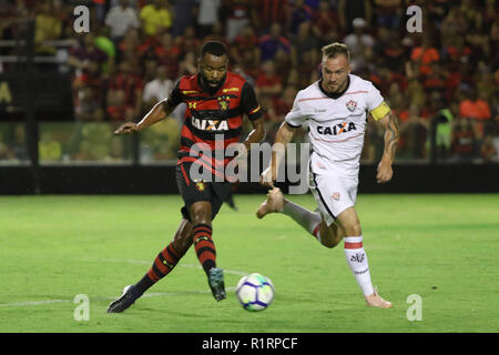
<svg viewBox="0 0 499 355"><path fill-rule="evenodd" d="M176 165L176 185L185 203L181 209L182 217L191 221L189 207L195 202L207 201L212 204L213 221L231 192L231 183L205 182L203 180L194 181L189 173L192 164L181 163Z"/></svg>

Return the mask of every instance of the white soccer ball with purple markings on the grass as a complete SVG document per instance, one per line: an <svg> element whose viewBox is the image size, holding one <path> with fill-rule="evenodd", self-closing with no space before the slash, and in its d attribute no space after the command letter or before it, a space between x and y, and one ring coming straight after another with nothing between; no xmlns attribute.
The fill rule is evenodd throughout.
<svg viewBox="0 0 499 355"><path fill-rule="evenodd" d="M251 274L240 280L236 296L246 311L263 311L274 300L274 284L261 274Z"/></svg>

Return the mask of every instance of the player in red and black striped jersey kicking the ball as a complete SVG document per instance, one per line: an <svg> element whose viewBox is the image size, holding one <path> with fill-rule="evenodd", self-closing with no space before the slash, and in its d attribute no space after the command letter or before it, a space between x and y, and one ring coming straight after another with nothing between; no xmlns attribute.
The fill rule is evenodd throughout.
<svg viewBox="0 0 499 355"><path fill-rule="evenodd" d="M123 312L146 290L166 276L194 245L197 258L206 273L208 285L216 301L224 300L223 270L216 265L216 248L212 237L212 221L231 191L227 166L244 159L252 143L265 136L263 112L254 89L240 75L227 71L228 54L217 41L206 42L197 61L198 73L182 77L167 99L159 102L139 122L126 122L116 134L140 132L166 119L182 102L186 104L181 132L176 183L184 200L182 221L172 242L155 257L151 268L109 307L109 313ZM243 115L253 124L246 140L240 143ZM226 148L240 144L236 158L226 156ZM222 154L222 155L221 155ZM203 170L201 179L196 172ZM207 172L207 174L206 174Z"/></svg>

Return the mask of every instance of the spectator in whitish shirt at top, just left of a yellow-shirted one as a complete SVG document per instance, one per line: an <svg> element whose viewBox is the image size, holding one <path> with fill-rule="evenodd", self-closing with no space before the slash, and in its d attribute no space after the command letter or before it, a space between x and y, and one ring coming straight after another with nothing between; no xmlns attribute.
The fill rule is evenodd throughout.
<svg viewBox="0 0 499 355"><path fill-rule="evenodd" d="M119 43L125 36L126 30L139 28L139 19L129 0L120 0L119 6L111 8L105 17L105 24L111 29L110 38L114 43Z"/></svg>

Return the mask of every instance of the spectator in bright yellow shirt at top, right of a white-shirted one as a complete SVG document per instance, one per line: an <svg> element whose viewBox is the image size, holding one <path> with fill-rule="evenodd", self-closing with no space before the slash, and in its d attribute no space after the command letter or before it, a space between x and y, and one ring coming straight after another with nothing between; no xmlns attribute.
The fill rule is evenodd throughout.
<svg viewBox="0 0 499 355"><path fill-rule="evenodd" d="M141 28L145 36L156 36L172 27L167 0L152 0L140 12Z"/></svg>

